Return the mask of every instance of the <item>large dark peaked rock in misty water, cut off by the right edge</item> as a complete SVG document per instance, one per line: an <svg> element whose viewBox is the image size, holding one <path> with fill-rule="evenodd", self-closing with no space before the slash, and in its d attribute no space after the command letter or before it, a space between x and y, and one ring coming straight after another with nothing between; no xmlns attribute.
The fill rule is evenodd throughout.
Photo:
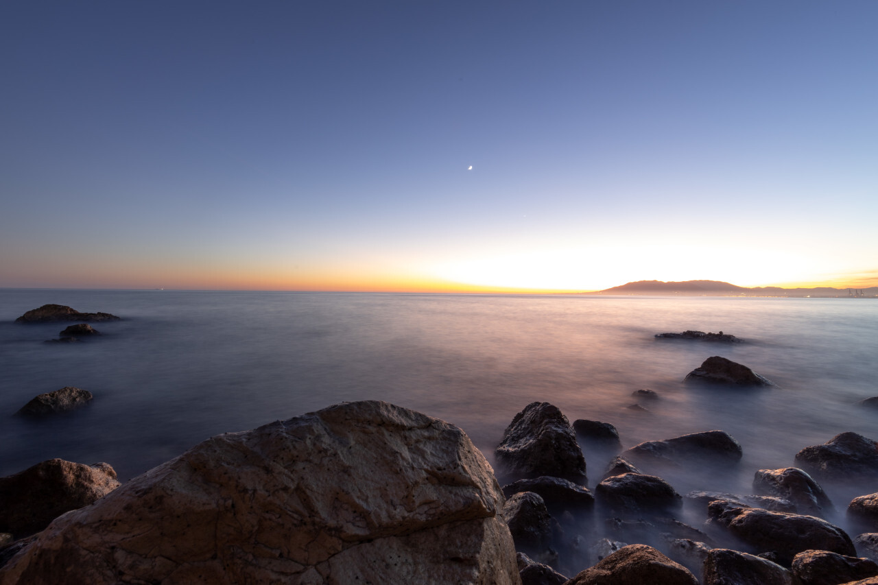
<svg viewBox="0 0 878 585"><path fill-rule="evenodd" d="M874 480L878 443L857 433L841 433L824 444L805 447L795 454L795 463L821 481Z"/></svg>

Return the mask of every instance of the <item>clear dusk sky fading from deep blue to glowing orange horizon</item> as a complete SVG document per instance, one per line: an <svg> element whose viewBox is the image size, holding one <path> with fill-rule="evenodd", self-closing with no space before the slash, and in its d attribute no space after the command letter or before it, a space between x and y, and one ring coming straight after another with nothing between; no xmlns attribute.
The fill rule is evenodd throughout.
<svg viewBox="0 0 878 585"><path fill-rule="evenodd" d="M878 285L876 29L874 0L4 2L0 286Z"/></svg>

